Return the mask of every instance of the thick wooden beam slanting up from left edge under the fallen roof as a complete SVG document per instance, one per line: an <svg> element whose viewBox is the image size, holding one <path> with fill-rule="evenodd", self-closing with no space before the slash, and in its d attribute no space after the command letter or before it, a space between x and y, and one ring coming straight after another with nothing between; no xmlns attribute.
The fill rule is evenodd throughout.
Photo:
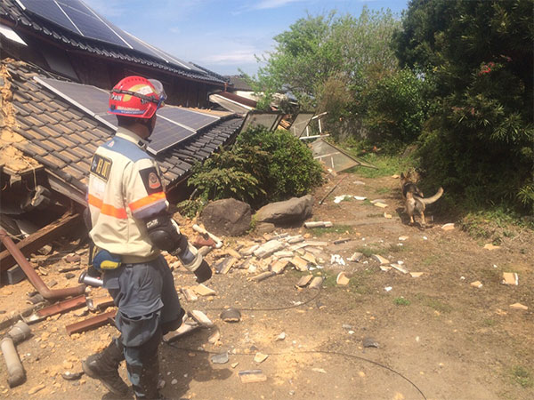
<svg viewBox="0 0 534 400"><path fill-rule="evenodd" d="M30 236L22 239L17 247L25 257L29 257L32 252L36 252L45 244L50 244L53 240L65 235L72 230L74 226L82 222L80 214L65 214L60 220L41 228L31 234ZM9 268L12 268L16 264L10 252L4 250L0 252L0 272L4 272Z"/></svg>

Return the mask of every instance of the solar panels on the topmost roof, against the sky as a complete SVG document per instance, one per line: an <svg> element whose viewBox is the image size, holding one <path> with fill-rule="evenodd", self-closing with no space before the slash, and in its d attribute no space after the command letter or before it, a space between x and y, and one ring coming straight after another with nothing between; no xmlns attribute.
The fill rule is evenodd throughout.
<svg viewBox="0 0 534 400"><path fill-rule="evenodd" d="M79 36L156 57L177 67L204 72L189 62L162 52L105 20L80 0L17 0L20 7Z"/></svg>

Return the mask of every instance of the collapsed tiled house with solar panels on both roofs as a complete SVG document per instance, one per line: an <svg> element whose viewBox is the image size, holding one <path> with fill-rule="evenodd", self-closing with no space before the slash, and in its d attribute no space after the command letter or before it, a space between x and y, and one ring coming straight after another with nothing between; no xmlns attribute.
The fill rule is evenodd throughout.
<svg viewBox="0 0 534 400"><path fill-rule="evenodd" d="M148 150L172 202L185 193L192 165L230 145L243 123L206 109L209 94L227 84L223 76L142 42L78 0L4 0L0 56L0 212L2 228L18 239L85 207L93 152L117 128L106 111L122 77L166 88ZM0 262L2 272L14 265L6 251Z"/></svg>

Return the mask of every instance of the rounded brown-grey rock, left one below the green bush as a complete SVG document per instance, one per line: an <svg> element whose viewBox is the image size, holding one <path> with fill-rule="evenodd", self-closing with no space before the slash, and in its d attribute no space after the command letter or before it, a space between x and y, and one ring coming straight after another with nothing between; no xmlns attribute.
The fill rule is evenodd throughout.
<svg viewBox="0 0 534 400"><path fill-rule="evenodd" d="M206 205L200 220L215 235L244 235L250 228L250 205L233 198L216 200Z"/></svg>

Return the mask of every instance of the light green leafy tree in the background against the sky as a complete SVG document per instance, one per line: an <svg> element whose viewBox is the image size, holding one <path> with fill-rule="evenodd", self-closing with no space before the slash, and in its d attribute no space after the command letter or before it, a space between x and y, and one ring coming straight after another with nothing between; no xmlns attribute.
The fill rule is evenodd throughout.
<svg viewBox="0 0 534 400"><path fill-rule="evenodd" d="M373 12L367 7L359 18L330 12L297 20L274 37L277 45L263 60L266 65L249 77L255 91L264 94L260 106L266 107L274 92L288 90L301 108L328 111L332 126L340 118L355 118L369 71L397 68L390 43L399 25L389 10Z"/></svg>

